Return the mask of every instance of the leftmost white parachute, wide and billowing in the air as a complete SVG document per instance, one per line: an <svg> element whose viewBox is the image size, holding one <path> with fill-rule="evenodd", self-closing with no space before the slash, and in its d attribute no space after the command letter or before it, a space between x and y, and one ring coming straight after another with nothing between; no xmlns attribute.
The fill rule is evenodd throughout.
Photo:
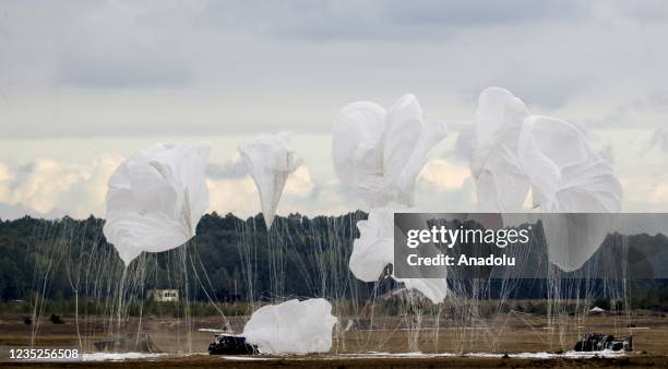
<svg viewBox="0 0 668 369"><path fill-rule="evenodd" d="M126 265L142 251L177 248L195 235L208 209L206 144L156 144L111 175L104 234Z"/></svg>

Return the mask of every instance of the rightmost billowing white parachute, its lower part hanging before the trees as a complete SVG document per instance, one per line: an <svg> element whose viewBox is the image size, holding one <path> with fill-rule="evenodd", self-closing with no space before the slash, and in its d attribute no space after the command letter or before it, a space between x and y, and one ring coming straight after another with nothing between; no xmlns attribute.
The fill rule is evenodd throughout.
<svg viewBox="0 0 668 369"><path fill-rule="evenodd" d="M580 269L613 224L612 215L591 213L621 210L622 188L612 166L580 129L550 117L525 120L518 154L532 181L534 205L562 213L542 218L550 262L565 272Z"/></svg>

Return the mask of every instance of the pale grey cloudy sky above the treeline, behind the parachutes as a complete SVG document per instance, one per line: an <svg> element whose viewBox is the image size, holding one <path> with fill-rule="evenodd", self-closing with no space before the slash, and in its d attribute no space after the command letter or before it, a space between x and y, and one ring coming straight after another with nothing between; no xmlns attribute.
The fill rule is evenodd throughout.
<svg viewBox="0 0 668 369"><path fill-rule="evenodd" d="M337 214L332 123L417 95L449 138L420 203L475 209L457 142L487 86L611 148L625 211L668 211L665 1L0 1L0 217L104 216L106 181L156 142L213 146L211 210L259 211L240 140L295 132L279 213Z"/></svg>

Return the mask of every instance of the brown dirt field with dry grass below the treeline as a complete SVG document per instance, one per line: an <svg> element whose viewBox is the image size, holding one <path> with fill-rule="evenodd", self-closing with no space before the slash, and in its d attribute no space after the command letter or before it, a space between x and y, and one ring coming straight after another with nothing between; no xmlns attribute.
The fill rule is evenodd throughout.
<svg viewBox="0 0 668 369"><path fill-rule="evenodd" d="M248 318L235 318L231 328L240 332ZM532 367L625 367L641 368L654 366L668 367L668 318L661 316L619 317L596 316L574 320L564 317L548 326L546 317L509 313L496 320L479 320L472 324L455 321L422 318L418 323L407 317L382 317L365 321L342 319L346 332L334 334L332 350L326 356L279 357L265 360L228 360L217 356L193 355L181 357L160 357L153 360L126 360L122 362L17 362L9 359L9 349L31 347L80 348L95 352L94 342L109 338L108 332L138 332L139 319L124 321L120 325L109 318L92 317L64 319L64 324L52 324L43 320L37 326L27 325L21 316L0 317L0 366L39 367L110 367L133 368L200 368L200 367L451 367L451 368L532 368ZM77 326L79 325L79 326ZM218 318L146 318L141 321L141 332L146 333L154 347L163 353L206 353L214 333L202 329L218 329L223 322ZM79 330L79 334L76 333ZM616 335L633 334L634 354L615 359L521 359L521 358L470 358L470 357L402 357L368 358L347 357L346 354L359 353L559 353L573 347L577 337L586 332L605 332ZM114 336L115 333L111 334ZM338 355L338 356L337 356Z"/></svg>

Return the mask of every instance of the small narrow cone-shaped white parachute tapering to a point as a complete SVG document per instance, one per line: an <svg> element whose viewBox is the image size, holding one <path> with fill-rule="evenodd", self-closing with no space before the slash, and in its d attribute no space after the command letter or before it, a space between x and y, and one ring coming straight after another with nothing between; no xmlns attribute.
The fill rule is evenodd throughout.
<svg viewBox="0 0 668 369"><path fill-rule="evenodd" d="M290 139L288 132L264 133L259 139L239 144L239 153L258 187L267 229L274 223L285 182L301 165L301 158L289 146Z"/></svg>

